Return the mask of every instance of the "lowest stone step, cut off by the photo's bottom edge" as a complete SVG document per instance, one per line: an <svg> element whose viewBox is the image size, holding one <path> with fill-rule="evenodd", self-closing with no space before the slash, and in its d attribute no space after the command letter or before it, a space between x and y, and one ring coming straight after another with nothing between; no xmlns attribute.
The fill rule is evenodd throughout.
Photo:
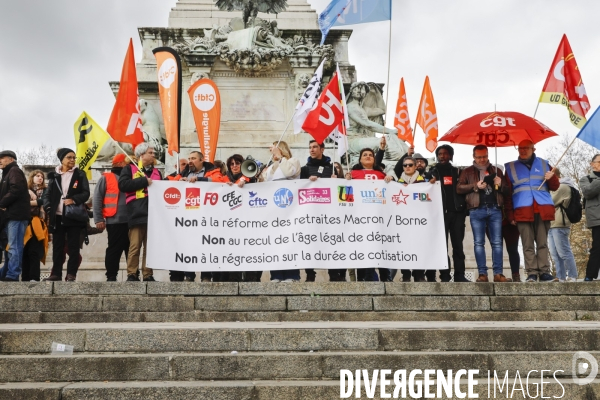
<svg viewBox="0 0 600 400"><path fill-rule="evenodd" d="M545 382L548 382L546 380ZM569 400L589 400L600 396L600 383L579 386L572 381L563 380L561 384L550 379L551 383L544 384L544 398L563 398ZM510 381L512 388L512 381ZM526 386L523 379L523 389ZM530 379L527 385L531 397L539 398L540 393L536 395L536 388L540 390L540 380ZM517 388L518 388L517 384ZM435 386L432 387L432 393L435 393ZM467 393L467 382L461 381L460 389ZM493 388L490 385L491 394ZM394 390L393 384L388 386L386 393L390 394ZM525 398L520 391L511 395L506 393L508 389L504 387L504 393L496 393L494 397L488 397L487 380L479 380L478 385L474 387L474 393L479 398L511 399ZM453 393L456 393L453 391ZM524 392L525 393L525 392ZM361 389L361 398L367 398L364 388ZM408 395L408 393L407 393ZM130 400L130 399L177 399L177 400L197 400L197 399L218 399L218 400L324 400L340 398L340 382L332 381L192 381L192 382L172 382L172 381L130 381L130 382L63 382L63 383L9 383L0 385L0 398L12 400L80 400L80 399L98 399L98 400ZM351 398L355 398L352 396ZM389 398L380 396L380 388L375 390L373 399ZM410 398L410 397L409 397ZM457 399L447 397L445 394L438 399ZM464 398L464 396L460 397Z"/></svg>

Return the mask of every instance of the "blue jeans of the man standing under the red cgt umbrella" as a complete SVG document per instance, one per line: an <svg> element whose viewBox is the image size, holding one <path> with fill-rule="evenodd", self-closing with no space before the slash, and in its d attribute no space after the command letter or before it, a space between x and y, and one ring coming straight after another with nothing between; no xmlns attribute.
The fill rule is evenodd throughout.
<svg viewBox="0 0 600 400"><path fill-rule="evenodd" d="M485 231L489 230L492 245L492 268L494 275L502 271L502 210L498 207L482 206L469 210L473 244L475 246L475 261L479 274L487 275L488 267L485 257Z"/></svg>

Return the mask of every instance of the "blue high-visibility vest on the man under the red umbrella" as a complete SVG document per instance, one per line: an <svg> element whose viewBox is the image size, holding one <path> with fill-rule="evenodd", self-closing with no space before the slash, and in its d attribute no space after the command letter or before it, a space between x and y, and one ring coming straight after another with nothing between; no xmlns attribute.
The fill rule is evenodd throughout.
<svg viewBox="0 0 600 400"><path fill-rule="evenodd" d="M546 160L536 157L531 169L520 161L504 164L506 175L513 185L513 207L531 207L533 200L539 205L554 206L548 184L544 182L544 175L550 170ZM538 188L542 185L540 190Z"/></svg>

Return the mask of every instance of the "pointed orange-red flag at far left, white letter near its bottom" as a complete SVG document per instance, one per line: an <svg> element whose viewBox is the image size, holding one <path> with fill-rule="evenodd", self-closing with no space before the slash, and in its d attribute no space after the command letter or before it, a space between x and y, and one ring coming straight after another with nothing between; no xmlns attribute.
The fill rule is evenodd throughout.
<svg viewBox="0 0 600 400"><path fill-rule="evenodd" d="M133 41L131 39L129 39L129 48L123 62L117 101L115 101L115 106L110 114L106 131L115 141L131 143L134 147L144 141Z"/></svg>

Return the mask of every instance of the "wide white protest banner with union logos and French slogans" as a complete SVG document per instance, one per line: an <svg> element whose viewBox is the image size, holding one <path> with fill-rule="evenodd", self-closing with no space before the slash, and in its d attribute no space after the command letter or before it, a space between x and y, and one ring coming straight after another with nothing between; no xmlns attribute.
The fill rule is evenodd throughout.
<svg viewBox="0 0 600 400"><path fill-rule="evenodd" d="M156 181L147 265L177 271L447 269L439 183Z"/></svg>

